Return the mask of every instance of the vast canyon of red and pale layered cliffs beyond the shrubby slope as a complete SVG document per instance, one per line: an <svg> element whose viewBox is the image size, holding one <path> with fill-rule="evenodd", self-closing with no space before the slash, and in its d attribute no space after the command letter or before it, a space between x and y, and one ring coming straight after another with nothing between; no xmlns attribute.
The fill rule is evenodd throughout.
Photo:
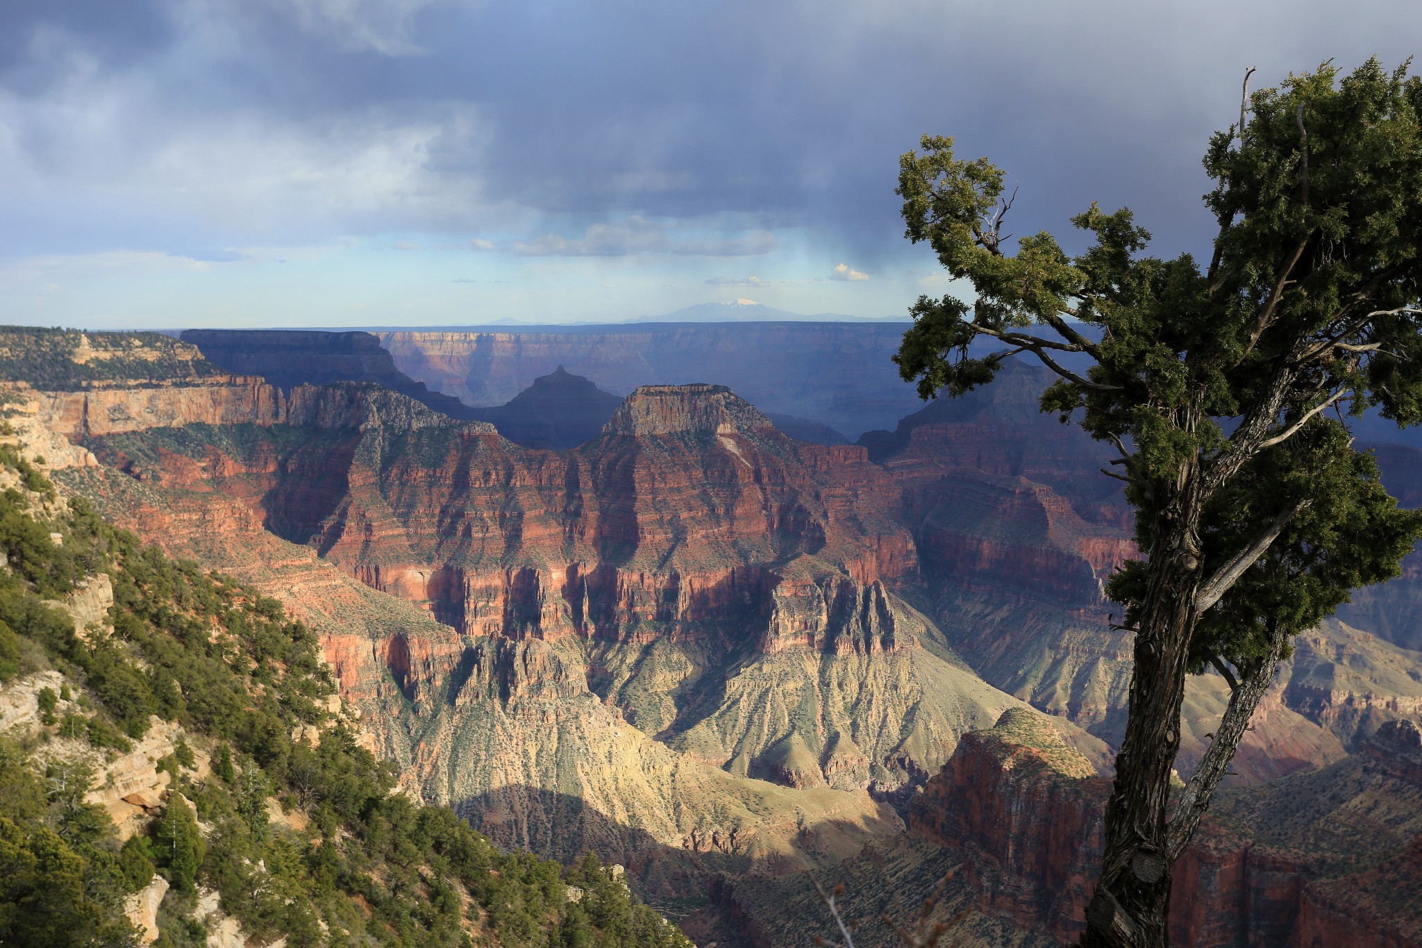
<svg viewBox="0 0 1422 948"><path fill-rule="evenodd" d="M846 331L812 330L785 344ZM845 358L865 358L883 327L853 330ZM944 911L968 912L964 944L1078 931L1129 681L1102 583L1136 550L1098 473L1102 446L1038 411L1039 370L1010 362L988 389L912 399L889 422L872 406L842 415L859 443L823 445L788 436L718 377L594 387L538 340L525 361L459 343L499 352L489 378L540 372L491 419L488 405L441 411L428 365L394 358L390 340L377 343L392 358L348 334L367 338L283 375L279 340L245 350L242 335L193 337L215 364L188 377L11 385L80 452L55 472L65 489L309 621L412 793L503 846L617 858L641 891L684 905L702 941L738 920L741 944L809 944L795 921L818 918L803 870L931 888L957 854ZM226 364L225 351L252 355ZM594 401L604 382L630 394ZM877 382L843 385L862 384ZM576 424L520 435L562 449L506 436L540 412L566 416L570 391L587 402ZM823 398L769 408L825 425L836 416ZM1379 460L1406 500L1405 466L1382 448ZM1199 907L1179 921L1193 939L1182 944L1338 944L1340 925L1415 944L1378 922L1382 901L1354 911L1328 876L1399 884L1365 866L1374 850L1320 863L1311 844L1254 831L1247 810L1324 799L1375 776L1359 770L1369 760L1411 759L1398 750L1422 713L1411 576L1295 642L1227 782L1236 809L1217 807L1179 868L1177 910ZM1183 776L1227 694L1217 675L1192 678ZM1352 807L1412 799L1388 780ZM1376 851L1406 867L1416 830L1399 826ZM1270 900L1284 900L1274 921L1253 908ZM1284 915L1305 921L1278 935Z"/></svg>

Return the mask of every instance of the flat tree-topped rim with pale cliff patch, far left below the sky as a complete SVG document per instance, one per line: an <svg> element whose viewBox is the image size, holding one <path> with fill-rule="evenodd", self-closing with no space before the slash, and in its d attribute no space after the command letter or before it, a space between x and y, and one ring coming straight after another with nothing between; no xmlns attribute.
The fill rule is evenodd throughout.
<svg viewBox="0 0 1422 948"><path fill-rule="evenodd" d="M158 385L226 375L198 347L161 333L81 333L0 325L0 381L41 391L92 382Z"/></svg>

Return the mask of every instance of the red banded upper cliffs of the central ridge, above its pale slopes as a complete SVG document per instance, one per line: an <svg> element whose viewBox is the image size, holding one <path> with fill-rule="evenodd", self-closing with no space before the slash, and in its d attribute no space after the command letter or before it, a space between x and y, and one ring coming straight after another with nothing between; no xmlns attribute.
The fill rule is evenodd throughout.
<svg viewBox="0 0 1422 948"><path fill-rule="evenodd" d="M323 389L293 391L293 421L306 391ZM282 486L283 468L311 468L301 458L347 468ZM795 442L721 387L638 391L567 455L400 418L367 422L340 453L262 448L199 472L226 488L216 469L259 478L263 513L280 502L282 522L309 530L284 536L476 635L884 648L893 620L875 584L916 566L912 537L873 506L893 483L862 449Z"/></svg>

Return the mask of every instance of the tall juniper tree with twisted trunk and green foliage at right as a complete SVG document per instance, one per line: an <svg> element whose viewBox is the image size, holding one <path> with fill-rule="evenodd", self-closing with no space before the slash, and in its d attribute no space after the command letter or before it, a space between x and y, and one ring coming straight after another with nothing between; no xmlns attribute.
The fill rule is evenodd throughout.
<svg viewBox="0 0 1422 948"><path fill-rule="evenodd" d="M1146 253L1126 209L1008 246L1011 198L987 159L924 136L900 161L907 237L975 303L920 297L896 355L924 398L993 381L1008 355L1057 381L1044 411L1119 453L1139 560L1108 594L1135 635L1129 716L1106 804L1084 945L1165 945L1185 850L1291 635L1389 578L1422 536L1349 424L1422 419L1422 82L1376 60L1324 64L1247 92L1209 142L1207 263ZM977 340L997 343L981 354ZM1230 702L1175 806L1186 675L1217 669Z"/></svg>

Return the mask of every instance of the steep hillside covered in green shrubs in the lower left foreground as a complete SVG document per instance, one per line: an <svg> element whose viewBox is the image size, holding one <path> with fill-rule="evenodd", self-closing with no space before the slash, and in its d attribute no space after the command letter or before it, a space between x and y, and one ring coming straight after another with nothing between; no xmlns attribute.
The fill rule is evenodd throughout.
<svg viewBox="0 0 1422 948"><path fill-rule="evenodd" d="M132 944L122 901L155 871L171 885L164 948L205 944L202 890L290 948L690 944L596 857L565 873L501 853L451 810L392 793L391 765L327 709L314 635L279 603L20 486L0 493L0 688L48 669L64 684L38 692L37 732L0 738L0 944ZM112 631L77 632L46 600L95 573L112 580ZM119 846L84 797L95 762L152 715L185 736L161 762L161 817Z"/></svg>

